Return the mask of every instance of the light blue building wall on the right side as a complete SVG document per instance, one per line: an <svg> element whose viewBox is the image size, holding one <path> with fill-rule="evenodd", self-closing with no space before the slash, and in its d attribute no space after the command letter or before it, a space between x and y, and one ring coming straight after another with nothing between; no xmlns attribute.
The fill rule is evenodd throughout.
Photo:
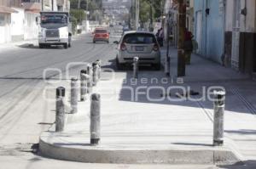
<svg viewBox="0 0 256 169"><path fill-rule="evenodd" d="M194 1L197 54L223 64L225 3L223 0Z"/></svg>

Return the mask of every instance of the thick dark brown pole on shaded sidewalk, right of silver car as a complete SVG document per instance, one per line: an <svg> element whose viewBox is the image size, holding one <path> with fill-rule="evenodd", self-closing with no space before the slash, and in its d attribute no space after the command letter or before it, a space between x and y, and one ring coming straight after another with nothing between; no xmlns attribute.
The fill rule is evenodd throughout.
<svg viewBox="0 0 256 169"><path fill-rule="evenodd" d="M178 42L177 42L177 77L186 76L186 58L184 51L186 29L186 4L178 0Z"/></svg>

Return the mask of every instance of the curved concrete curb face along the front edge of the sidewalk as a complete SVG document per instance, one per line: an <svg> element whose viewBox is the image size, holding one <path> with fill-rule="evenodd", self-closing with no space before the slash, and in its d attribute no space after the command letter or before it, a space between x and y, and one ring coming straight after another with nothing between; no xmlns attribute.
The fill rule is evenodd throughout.
<svg viewBox="0 0 256 169"><path fill-rule="evenodd" d="M212 149L130 149L125 147L101 147L89 144L68 145L47 143L55 137L44 132L39 141L40 155L86 163L115 164L214 164L233 165L240 160L226 147Z"/></svg>

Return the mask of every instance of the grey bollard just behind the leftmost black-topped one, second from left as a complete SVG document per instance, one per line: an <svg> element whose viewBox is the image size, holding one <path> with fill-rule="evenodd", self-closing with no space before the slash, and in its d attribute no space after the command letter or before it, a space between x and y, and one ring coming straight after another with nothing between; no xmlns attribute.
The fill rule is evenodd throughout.
<svg viewBox="0 0 256 169"><path fill-rule="evenodd" d="M79 84L77 78L71 79L71 113L75 114L78 112L78 101L79 101Z"/></svg>

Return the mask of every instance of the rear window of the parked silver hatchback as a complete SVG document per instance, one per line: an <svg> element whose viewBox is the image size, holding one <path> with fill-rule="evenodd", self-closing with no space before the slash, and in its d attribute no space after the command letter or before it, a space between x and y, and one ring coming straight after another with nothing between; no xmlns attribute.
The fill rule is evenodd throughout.
<svg viewBox="0 0 256 169"><path fill-rule="evenodd" d="M151 44L156 43L156 39L151 34L134 33L125 35L123 42L130 44Z"/></svg>

